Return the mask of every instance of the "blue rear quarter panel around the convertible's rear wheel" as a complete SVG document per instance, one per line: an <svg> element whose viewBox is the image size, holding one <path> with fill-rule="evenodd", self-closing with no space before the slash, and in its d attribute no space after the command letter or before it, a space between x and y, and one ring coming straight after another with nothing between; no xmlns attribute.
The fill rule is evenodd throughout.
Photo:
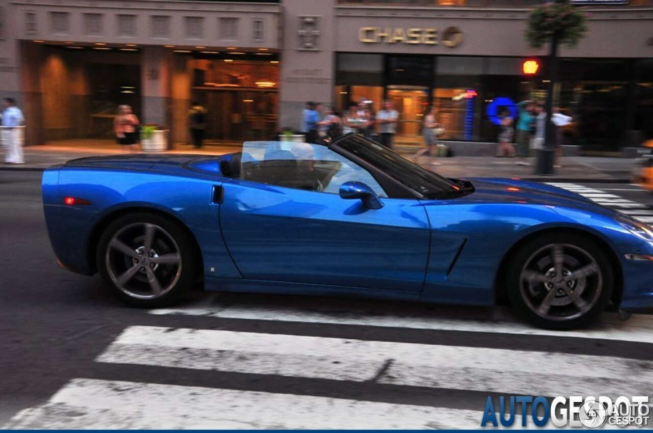
<svg viewBox="0 0 653 433"><path fill-rule="evenodd" d="M44 179L52 178L54 173L46 171ZM63 168L58 173L59 191L54 194L47 188L44 209L55 254L69 269L92 273L95 245L89 242L93 229L105 217L138 208L167 214L182 222L202 251L206 275L240 277L219 231L219 205L211 203L213 187L220 185L221 179L201 173L197 177L178 177L155 171L88 167ZM92 204L64 205L63 197L67 195L86 198Z"/></svg>

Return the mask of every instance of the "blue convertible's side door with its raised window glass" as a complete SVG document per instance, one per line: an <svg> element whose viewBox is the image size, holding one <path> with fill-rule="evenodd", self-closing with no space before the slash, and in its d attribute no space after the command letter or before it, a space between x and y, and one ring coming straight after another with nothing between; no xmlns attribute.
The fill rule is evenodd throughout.
<svg viewBox="0 0 653 433"><path fill-rule="evenodd" d="M421 291L430 243L424 206L388 198L370 173L326 148L319 152L317 164L330 167L315 182L319 190L289 183L295 170L290 160L275 164L284 167L283 179L259 173L223 184L220 227L244 278ZM255 159L257 166L273 161ZM367 209L360 200L340 198L338 188L348 180L372 184L383 207Z"/></svg>

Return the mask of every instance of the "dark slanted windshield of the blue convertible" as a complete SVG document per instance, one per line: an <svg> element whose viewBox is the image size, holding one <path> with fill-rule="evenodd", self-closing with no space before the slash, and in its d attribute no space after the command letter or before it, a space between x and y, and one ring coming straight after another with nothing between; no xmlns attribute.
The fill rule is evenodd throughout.
<svg viewBox="0 0 653 433"><path fill-rule="evenodd" d="M460 190L449 179L362 136L348 136L335 145L379 168L424 198L440 198L443 194Z"/></svg>

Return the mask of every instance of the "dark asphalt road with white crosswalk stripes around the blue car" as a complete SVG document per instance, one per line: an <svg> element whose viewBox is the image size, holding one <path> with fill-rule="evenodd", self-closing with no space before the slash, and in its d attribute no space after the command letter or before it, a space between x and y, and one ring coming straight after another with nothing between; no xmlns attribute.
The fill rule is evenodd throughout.
<svg viewBox="0 0 653 433"><path fill-rule="evenodd" d="M653 215L637 187L588 188ZM40 173L0 172L0 203L0 426L474 428L488 395L653 389L650 316L554 333L507 307L200 291L137 310L57 266Z"/></svg>

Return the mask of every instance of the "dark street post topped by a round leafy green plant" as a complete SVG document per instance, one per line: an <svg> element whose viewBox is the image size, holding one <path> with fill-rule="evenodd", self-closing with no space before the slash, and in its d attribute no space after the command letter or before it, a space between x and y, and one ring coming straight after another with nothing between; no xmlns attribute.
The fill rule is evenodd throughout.
<svg viewBox="0 0 653 433"><path fill-rule="evenodd" d="M541 48L549 42L549 89L545 111L547 112L545 140L543 148L537 155L535 173L553 173L555 127L551 123L553 110L553 89L558 78L558 44L566 44L569 48L577 46L587 31L584 12L567 3L567 0L549 1L535 8L528 16L526 39L531 48Z"/></svg>

